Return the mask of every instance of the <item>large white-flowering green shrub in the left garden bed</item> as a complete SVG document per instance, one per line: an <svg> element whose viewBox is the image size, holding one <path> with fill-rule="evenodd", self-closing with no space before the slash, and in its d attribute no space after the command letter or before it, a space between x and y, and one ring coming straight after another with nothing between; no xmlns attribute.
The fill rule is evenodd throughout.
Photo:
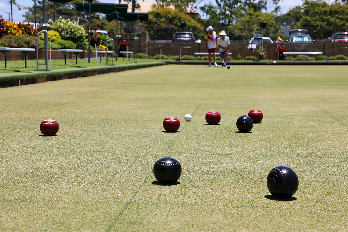
<svg viewBox="0 0 348 232"><path fill-rule="evenodd" d="M49 24L52 24L54 31L57 31L63 40L70 40L77 45L77 49L87 48L87 38L85 29L77 25L77 23L72 20L59 18L55 22L49 19Z"/></svg>

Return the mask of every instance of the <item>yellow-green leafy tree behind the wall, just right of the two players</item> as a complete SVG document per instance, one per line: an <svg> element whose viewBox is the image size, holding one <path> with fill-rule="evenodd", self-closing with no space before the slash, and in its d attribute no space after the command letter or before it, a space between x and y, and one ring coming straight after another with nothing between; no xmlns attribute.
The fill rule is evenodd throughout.
<svg viewBox="0 0 348 232"><path fill-rule="evenodd" d="M266 23L263 29L263 36L270 37L275 41L276 20L270 13L254 12L252 9L246 10L245 15L234 25L227 27L227 33L232 40L250 40L254 36L254 28L260 25L260 22ZM282 33L282 31L277 32Z"/></svg>

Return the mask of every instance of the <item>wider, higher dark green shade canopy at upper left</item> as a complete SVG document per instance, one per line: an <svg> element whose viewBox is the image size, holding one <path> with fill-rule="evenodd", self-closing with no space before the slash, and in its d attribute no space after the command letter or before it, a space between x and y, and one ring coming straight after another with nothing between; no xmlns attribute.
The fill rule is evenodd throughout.
<svg viewBox="0 0 348 232"><path fill-rule="evenodd" d="M73 2L76 5L76 10L89 10L89 3L86 2ZM110 3L90 3L91 11L95 13L111 13L111 12L119 12L119 13L127 13L127 4L110 4Z"/></svg>

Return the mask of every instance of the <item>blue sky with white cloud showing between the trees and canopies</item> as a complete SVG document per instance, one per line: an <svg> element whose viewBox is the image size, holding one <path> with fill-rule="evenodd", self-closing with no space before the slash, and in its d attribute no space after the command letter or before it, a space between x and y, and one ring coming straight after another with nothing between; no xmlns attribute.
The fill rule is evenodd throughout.
<svg viewBox="0 0 348 232"><path fill-rule="evenodd" d="M99 0L102 3L118 3L118 0ZM145 1L155 1L155 0L145 0ZM0 0L0 15L6 20L9 19L9 13L11 13L11 6L9 0ZM21 6L22 10L18 10L16 6L13 5L13 22L23 22L23 14L26 12L24 9L25 6L32 7L34 5L33 0L16 0L17 4ZM204 0L201 5L205 5L209 2L215 2L215 0ZM282 7L281 13L287 13L289 9L295 6L301 6L302 0L283 0L279 3L279 6ZM200 13L200 12L198 12ZM202 15L202 18L205 16Z"/></svg>

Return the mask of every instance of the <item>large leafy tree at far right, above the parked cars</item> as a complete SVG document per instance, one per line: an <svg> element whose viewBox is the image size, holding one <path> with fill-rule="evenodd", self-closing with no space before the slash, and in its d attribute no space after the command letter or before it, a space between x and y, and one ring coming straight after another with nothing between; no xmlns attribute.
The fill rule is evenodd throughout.
<svg viewBox="0 0 348 232"><path fill-rule="evenodd" d="M294 29L306 29L314 39L325 39L334 33L348 31L348 5L339 2L329 5L324 0L304 0L302 6L292 8L280 17L280 22Z"/></svg>

